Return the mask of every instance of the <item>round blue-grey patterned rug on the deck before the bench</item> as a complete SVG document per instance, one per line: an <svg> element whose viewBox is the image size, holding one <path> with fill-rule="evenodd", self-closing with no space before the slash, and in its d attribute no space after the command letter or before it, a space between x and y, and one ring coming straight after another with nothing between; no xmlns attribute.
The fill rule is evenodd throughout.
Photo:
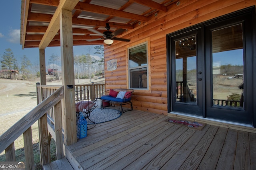
<svg viewBox="0 0 256 170"><path fill-rule="evenodd" d="M90 113L90 119L92 121L94 121L95 123L103 123L106 121L111 121L111 120L117 119L121 115L122 115L122 112L119 110L116 110L116 109L108 109L108 108L94 109ZM88 125L94 124L88 119L86 119L86 121L87 121Z"/></svg>

